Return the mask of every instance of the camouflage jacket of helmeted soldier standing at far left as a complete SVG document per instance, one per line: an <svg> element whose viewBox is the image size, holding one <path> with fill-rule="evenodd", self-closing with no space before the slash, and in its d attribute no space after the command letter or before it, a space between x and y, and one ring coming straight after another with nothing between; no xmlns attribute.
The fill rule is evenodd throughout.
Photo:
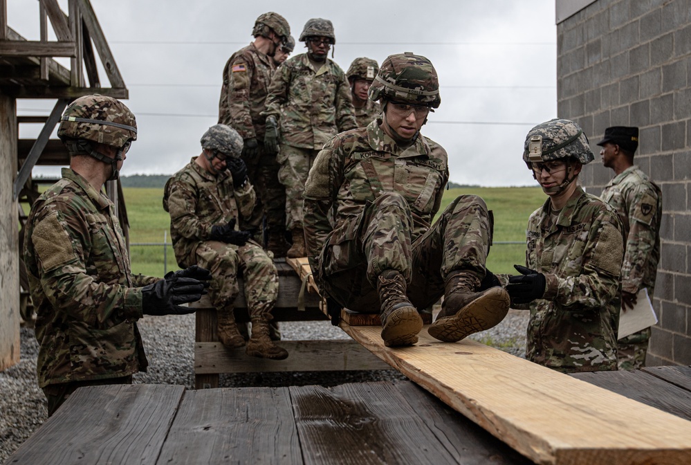
<svg viewBox="0 0 691 465"><path fill-rule="evenodd" d="M40 387L146 371L138 288L158 278L131 274L113 203L73 170L31 208L24 261Z"/></svg>

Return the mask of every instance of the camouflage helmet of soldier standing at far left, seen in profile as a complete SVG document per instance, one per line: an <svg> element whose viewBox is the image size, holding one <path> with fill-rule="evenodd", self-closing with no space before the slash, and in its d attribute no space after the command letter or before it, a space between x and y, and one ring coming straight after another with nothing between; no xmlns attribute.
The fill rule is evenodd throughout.
<svg viewBox="0 0 691 465"><path fill-rule="evenodd" d="M84 95L68 105L57 128L57 136L121 148L137 140L137 121L124 103L105 95Z"/></svg>

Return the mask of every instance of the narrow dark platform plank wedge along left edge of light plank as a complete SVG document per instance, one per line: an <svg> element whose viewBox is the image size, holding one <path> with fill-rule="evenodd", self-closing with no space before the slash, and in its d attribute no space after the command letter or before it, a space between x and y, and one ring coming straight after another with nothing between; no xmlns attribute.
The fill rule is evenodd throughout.
<svg viewBox="0 0 691 465"><path fill-rule="evenodd" d="M528 465L534 463L415 383L396 381L394 388L424 419L427 428L430 428L432 434L439 439L459 464Z"/></svg>

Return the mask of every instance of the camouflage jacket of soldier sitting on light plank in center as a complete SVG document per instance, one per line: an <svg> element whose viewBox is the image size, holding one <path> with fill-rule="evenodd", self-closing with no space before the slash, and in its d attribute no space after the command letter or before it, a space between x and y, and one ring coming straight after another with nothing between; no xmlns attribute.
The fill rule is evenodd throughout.
<svg viewBox="0 0 691 465"><path fill-rule="evenodd" d="M413 145L398 147L380 122L338 134L317 155L303 194L311 262L327 241L341 244L357 237L365 206L385 192L398 192L407 201L414 224L412 241L430 228L439 211L449 179L445 149L419 133ZM348 267L349 257L333 259L330 266Z"/></svg>

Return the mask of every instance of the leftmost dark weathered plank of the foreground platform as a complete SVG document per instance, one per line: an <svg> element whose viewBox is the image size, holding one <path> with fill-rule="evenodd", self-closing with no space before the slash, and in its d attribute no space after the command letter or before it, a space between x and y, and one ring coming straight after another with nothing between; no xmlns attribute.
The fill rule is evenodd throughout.
<svg viewBox="0 0 691 465"><path fill-rule="evenodd" d="M80 388L8 464L156 464L184 386Z"/></svg>

